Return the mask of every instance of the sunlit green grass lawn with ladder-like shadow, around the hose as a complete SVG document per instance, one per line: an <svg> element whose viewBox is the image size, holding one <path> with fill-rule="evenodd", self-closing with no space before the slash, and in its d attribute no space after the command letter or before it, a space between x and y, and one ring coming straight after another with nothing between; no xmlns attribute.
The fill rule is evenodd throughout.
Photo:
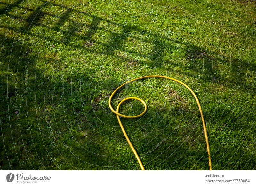
<svg viewBox="0 0 256 186"><path fill-rule="evenodd" d="M108 107L145 75L200 100L213 170L256 169L256 1L2 0L0 169L140 170ZM165 79L119 91L146 170L208 170L196 101ZM121 113L137 115L138 101Z"/></svg>

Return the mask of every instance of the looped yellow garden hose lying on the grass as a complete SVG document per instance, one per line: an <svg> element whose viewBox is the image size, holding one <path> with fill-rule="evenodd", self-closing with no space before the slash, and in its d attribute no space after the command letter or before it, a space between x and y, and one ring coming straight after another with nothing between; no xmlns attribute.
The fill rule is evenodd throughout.
<svg viewBox="0 0 256 186"><path fill-rule="evenodd" d="M117 108L116 108L116 111L115 111L115 110L113 109L112 105L111 105L111 100L112 100L113 96L116 94L116 92L117 92L119 89L121 89L124 85L126 85L126 84L128 84L128 83L130 83L130 82L132 82L132 81L137 81L137 80L145 79L145 78L166 78L166 79L170 79L170 80L172 80L172 81L176 81L176 82L180 83L181 85L183 85L184 87L186 87L186 88L193 94L193 96L194 96L195 99L196 99L196 103L197 103L197 105L198 105L198 107L199 107L199 111L200 111L200 114L201 114L201 119L202 119L203 128L204 128L204 136L205 136L205 140L206 140L207 153L208 153L208 158L209 158L209 169L212 170L212 161L211 161L211 155L210 155L210 145L209 145L208 136L207 136L207 131L206 131L206 126L205 126L205 122L204 122L204 115L203 115L202 108L201 108L201 105L200 105L200 103L199 103L199 100L198 100L198 98L196 97L196 94L195 94L195 93L193 92L193 90L190 89L190 88L188 87L188 85L186 85L185 83L183 83L183 82L181 82L181 81L179 81L179 80L176 80L176 79L174 79L174 78L170 78L170 77L167 77L167 76L161 76L161 75L148 75L148 76L143 76L143 77L139 77L139 78L133 79L133 80L131 80L131 81L127 81L126 83L124 83L124 84L122 84L120 87L118 87L118 88L111 94L111 96L109 97L109 101L108 101L109 108L111 109L112 112L114 112L114 113L116 114L116 117L117 117L117 120L118 120L118 122L119 122L119 125L120 125L120 127L121 127L121 129L122 129L122 131L123 131L123 133L124 133L124 136L125 136L127 142L129 143L129 145L130 145L130 147L131 147L133 153L135 154L135 156L136 156L136 158L137 158L137 160L138 160L138 162L139 162L139 164L140 164L141 169L142 169L142 170L145 170L145 168L144 168L144 166L143 166L143 164L142 164L142 162L141 162L141 160L140 160L139 155L137 154L136 150L135 150L134 147L132 146L132 143L131 143L130 139L128 138L128 136L127 136L127 134L126 134L126 132L125 132L125 130L124 130L124 127L123 127L123 125L122 125L122 122L121 122L121 120L120 120L120 117L124 117L124 118L138 118L138 117L144 115L144 114L147 112L147 104L146 104L142 99L140 99L140 98L138 98L138 97L128 97L128 98L123 99L123 100L117 105ZM137 116L126 116L126 115L123 115L123 114L120 114L120 113L119 113L120 105L121 105L122 103L124 103L126 100L130 100L130 99L136 99L136 100L140 101L141 103L143 103L145 109L144 109L144 111L143 111L140 115L137 115Z"/></svg>

